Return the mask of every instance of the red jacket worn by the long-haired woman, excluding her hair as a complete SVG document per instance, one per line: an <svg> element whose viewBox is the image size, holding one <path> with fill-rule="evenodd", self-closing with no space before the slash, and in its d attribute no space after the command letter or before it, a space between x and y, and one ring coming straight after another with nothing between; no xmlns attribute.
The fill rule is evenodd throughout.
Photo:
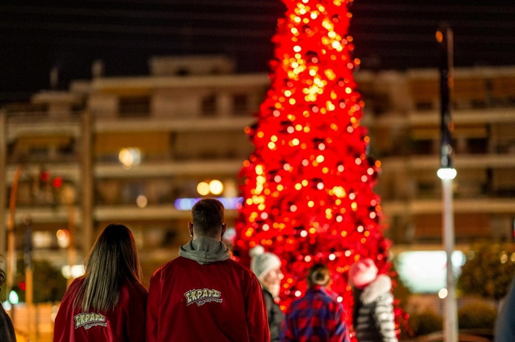
<svg viewBox="0 0 515 342"><path fill-rule="evenodd" d="M74 280L64 294L56 316L54 342L145 341L145 287L125 284L113 310L83 312L72 307L83 281L83 277Z"/></svg>

